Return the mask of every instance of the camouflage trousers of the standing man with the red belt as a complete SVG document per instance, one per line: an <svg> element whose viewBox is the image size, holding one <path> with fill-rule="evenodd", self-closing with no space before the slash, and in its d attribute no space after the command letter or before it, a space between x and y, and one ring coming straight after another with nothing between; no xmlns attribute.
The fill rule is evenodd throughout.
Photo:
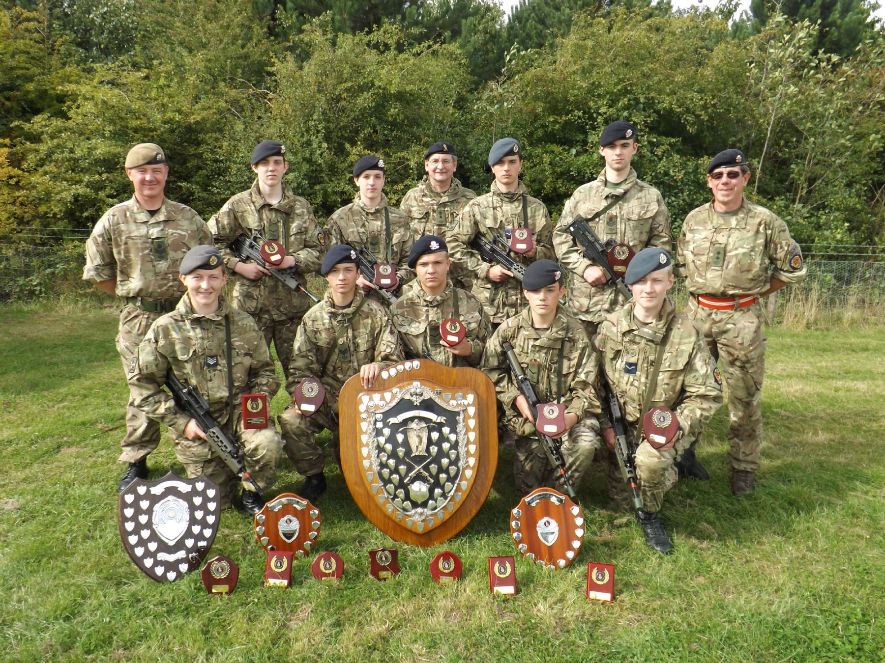
<svg viewBox="0 0 885 663"><path fill-rule="evenodd" d="M728 387L728 452L734 469L759 469L762 449L762 378L766 370L766 335L762 305L737 310L704 309L689 297L686 315L704 333L713 359L722 365Z"/></svg>

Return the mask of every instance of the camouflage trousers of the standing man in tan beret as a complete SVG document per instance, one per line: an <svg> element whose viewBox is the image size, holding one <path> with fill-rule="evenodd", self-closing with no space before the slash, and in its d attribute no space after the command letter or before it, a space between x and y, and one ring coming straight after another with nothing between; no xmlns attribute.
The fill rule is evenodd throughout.
<svg viewBox="0 0 885 663"><path fill-rule="evenodd" d="M126 377L135 372L138 361L138 346L161 313L148 313L127 304L119 314L117 331L117 352L123 362ZM126 408L126 435L120 440L119 462L139 461L157 448L160 443L160 424L150 419L140 409L135 408L133 394L129 392Z"/></svg>

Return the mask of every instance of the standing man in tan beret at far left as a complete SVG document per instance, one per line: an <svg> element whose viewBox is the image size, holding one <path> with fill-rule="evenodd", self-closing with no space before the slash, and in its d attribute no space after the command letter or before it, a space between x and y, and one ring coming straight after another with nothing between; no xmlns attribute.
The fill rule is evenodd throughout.
<svg viewBox="0 0 885 663"><path fill-rule="evenodd" d="M117 351L129 377L150 325L173 311L184 293L178 278L181 258L191 248L212 244L212 235L194 210L165 198L169 166L158 145L142 142L130 149L126 174L135 195L98 219L86 242L83 279L122 300ZM217 349L219 354L224 351ZM127 469L119 491L136 478L147 478L147 456L160 441L158 423L133 406L131 393L126 429L118 460L127 463Z"/></svg>

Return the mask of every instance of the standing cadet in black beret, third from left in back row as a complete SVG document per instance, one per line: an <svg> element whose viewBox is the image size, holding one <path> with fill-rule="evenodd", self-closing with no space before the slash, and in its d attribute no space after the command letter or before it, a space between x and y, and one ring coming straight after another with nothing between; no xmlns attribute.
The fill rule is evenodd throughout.
<svg viewBox="0 0 885 663"><path fill-rule="evenodd" d="M412 248L409 217L402 210L390 207L384 188L384 160L374 155L359 159L353 167L353 183L359 188L350 205L335 211L326 224L328 242L350 244L359 250L366 247L379 263L396 267L399 284L415 278L415 272L402 266ZM374 287L360 276L358 284Z"/></svg>

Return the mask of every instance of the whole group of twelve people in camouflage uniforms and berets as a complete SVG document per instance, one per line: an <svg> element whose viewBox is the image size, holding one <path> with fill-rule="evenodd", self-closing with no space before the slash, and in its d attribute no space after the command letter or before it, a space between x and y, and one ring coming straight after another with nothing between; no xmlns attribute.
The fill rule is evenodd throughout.
<svg viewBox="0 0 885 663"><path fill-rule="evenodd" d="M578 187L556 225L519 179L525 162L515 139L496 141L490 149L495 179L481 196L454 177L454 146L435 143L424 155L427 177L404 196L401 209L391 207L383 192L383 159L363 156L353 169L354 201L320 227L310 203L283 180L289 163L278 141L258 144L251 157L255 183L228 200L208 225L194 210L165 198L169 168L163 150L152 143L135 146L126 159L135 195L96 224L83 275L125 300L117 347L130 397L119 456L127 469L119 490L147 476L145 459L158 445L158 423L165 423L188 476L212 477L222 505L235 502L237 477L161 389L171 370L195 386L215 419L235 432L246 469L262 489L273 485L285 452L305 477L299 494L315 501L326 490L326 459L314 435L332 432L331 450L340 462L338 393L344 382L358 375L371 388L381 370L404 357L484 370L496 386L500 430L512 438L517 489L557 487L559 478L535 435L533 410L504 356L504 348L512 347L541 402L565 407L559 441L568 479L577 486L594 458L606 455L609 491L623 506L630 504L627 484L604 402L607 391L617 396L636 449L643 503L636 520L650 547L670 552L658 511L679 476L709 478L694 449L723 400L717 360L728 387L731 489L735 495L754 489L766 345L759 300L804 278L806 267L784 222L743 197L750 170L737 149L712 159L712 202L686 218L673 255L663 197L631 166L637 149L634 126L606 126L599 141L604 170ZM583 253L568 231L575 217L587 218L600 240L635 252L624 275L632 299ZM485 262L474 241L498 237L509 245L518 229L531 230L523 251L510 253L525 268L521 282L503 265ZM281 263L243 260L232 250L240 235L253 233L281 245ZM365 250L395 266L401 291L392 305L358 269L358 252ZM270 270L293 268L326 278L327 292L315 306L306 294L267 278ZM689 287L684 313L667 294L674 274ZM228 278L234 280L230 302L222 296ZM441 336L447 318L465 327L457 345ZM292 394L312 377L326 398L309 417L293 400L279 417L280 433L273 425L243 430L241 395L260 392L270 400L279 388L272 341L286 391ZM678 420L672 446L651 445L643 435L643 415L658 406L670 408ZM262 507L248 484L241 502L252 514Z"/></svg>

